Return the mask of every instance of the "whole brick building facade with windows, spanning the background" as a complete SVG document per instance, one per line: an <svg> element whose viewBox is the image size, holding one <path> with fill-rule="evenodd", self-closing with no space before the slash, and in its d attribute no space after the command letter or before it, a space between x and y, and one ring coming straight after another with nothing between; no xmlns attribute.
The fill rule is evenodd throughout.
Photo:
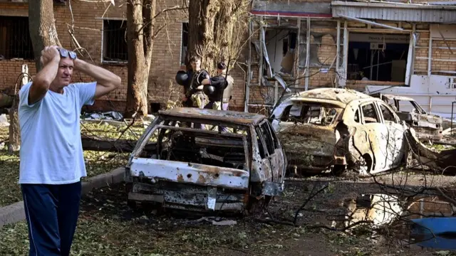
<svg viewBox="0 0 456 256"><path fill-rule="evenodd" d="M158 2L161 9L180 4L177 0ZM442 5L443 1L433 5L437 1L432 0L408 2L253 1L251 36L239 60L243 64L232 70L235 83L231 106L249 111L270 107L283 92L282 80L292 91L343 86L361 91L388 87L415 90L413 86L420 84L429 93L429 88L435 87L453 95L456 27L444 23L455 17L452 13L456 13L456 6ZM122 111L127 92L125 3L115 1L116 6L109 8L108 3L71 1L71 8L69 3L54 6L58 37L64 47L75 48L68 33L73 28L74 38L93 61L123 78L123 86L95 106ZM150 102L180 96L174 78L185 54L186 18L178 11L168 14L167 30L154 42ZM29 65L32 75L35 70L27 43L27 16L26 3L0 0L0 36L8 38L0 38L0 55L4 55L0 60L0 90L14 87L22 64ZM87 54L84 58L90 61ZM367 80L362 80L362 75ZM75 74L75 80L88 78ZM430 82L433 80L437 82ZM447 80L447 90L447 85L435 85ZM430 102L420 104L431 108Z"/></svg>

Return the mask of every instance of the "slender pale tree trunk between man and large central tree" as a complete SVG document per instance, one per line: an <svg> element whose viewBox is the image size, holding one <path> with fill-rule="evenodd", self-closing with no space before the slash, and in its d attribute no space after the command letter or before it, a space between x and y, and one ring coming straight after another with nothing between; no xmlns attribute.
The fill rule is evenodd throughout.
<svg viewBox="0 0 456 256"><path fill-rule="evenodd" d="M125 118L147 116L147 85L152 58L155 6L156 0L128 1L128 88Z"/></svg>

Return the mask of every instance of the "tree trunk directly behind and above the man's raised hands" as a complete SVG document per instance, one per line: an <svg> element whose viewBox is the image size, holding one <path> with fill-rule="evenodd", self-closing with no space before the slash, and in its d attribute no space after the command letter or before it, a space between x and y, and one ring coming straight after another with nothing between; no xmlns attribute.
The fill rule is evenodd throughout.
<svg viewBox="0 0 456 256"><path fill-rule="evenodd" d="M28 30L38 73L42 68L41 50L46 46L61 46L54 21L53 0L28 1Z"/></svg>

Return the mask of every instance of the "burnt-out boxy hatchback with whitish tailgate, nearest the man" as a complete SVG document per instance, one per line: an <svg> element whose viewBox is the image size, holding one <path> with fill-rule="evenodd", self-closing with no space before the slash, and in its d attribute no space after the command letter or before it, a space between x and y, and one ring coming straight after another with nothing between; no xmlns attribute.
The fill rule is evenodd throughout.
<svg viewBox="0 0 456 256"><path fill-rule="evenodd" d="M261 199L281 196L286 164L264 115L160 110L125 168L128 200L182 210L250 210Z"/></svg>

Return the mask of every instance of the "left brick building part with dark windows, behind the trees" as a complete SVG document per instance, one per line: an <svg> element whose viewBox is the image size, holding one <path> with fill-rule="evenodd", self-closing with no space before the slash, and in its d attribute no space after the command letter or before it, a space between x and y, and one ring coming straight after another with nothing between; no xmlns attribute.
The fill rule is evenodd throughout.
<svg viewBox="0 0 456 256"><path fill-rule="evenodd" d="M182 1L157 1L159 9L170 8ZM71 6L70 6L71 3ZM71 8L70 8L71 7ZM186 18L180 11L168 11L167 27L155 38L152 65L149 78L151 103L166 103L177 100L182 88L175 83L175 74L182 68L185 55ZM109 2L67 1L54 4L54 16L58 38L63 47L75 49L69 29L73 28L74 38L82 48L86 48L83 59L103 66L122 78L122 86L108 97L95 102L92 109L118 110L123 112L127 95L127 44L126 44L126 4ZM162 26L163 18L157 18L157 27ZM73 26L73 27L72 27ZM90 55L90 57L89 57ZM91 58L91 59L90 59ZM33 48L28 35L28 4L21 1L0 0L0 90L14 89L16 79L21 74L21 66L28 65L28 71L35 75ZM244 74L242 70L232 70L235 79L234 99L231 106L242 110L244 99ZM81 74L74 73L73 81L89 81ZM156 107L156 106L153 106Z"/></svg>

